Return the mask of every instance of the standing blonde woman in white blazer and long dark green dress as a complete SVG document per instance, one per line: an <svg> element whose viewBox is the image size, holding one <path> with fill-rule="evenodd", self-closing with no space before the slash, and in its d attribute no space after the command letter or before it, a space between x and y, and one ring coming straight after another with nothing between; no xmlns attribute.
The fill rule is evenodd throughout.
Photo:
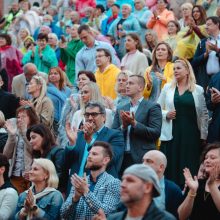
<svg viewBox="0 0 220 220"><path fill-rule="evenodd" d="M181 170L189 167L194 175L197 173L201 144L207 139L208 112L203 93L203 88L195 84L190 63L176 60L174 79L164 86L158 103L163 112L161 150L169 161L166 177L181 186Z"/></svg>

